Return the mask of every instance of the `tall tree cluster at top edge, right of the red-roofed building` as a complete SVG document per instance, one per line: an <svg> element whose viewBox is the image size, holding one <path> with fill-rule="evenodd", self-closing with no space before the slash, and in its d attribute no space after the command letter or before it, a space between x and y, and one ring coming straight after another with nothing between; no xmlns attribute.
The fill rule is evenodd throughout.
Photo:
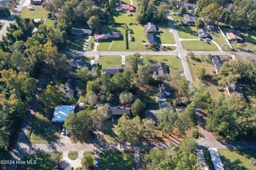
<svg viewBox="0 0 256 170"><path fill-rule="evenodd" d="M141 23L146 21L164 22L167 20L166 12L168 6L166 4L158 5L157 1L150 0L139 0L137 20Z"/></svg>

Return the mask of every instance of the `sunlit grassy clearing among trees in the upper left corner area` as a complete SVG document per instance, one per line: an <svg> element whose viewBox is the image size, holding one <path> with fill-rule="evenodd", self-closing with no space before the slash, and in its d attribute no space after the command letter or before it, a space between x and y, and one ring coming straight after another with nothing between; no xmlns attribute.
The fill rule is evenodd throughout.
<svg viewBox="0 0 256 170"><path fill-rule="evenodd" d="M22 18L30 18L30 19L46 19L46 25L53 25L53 20L47 19L47 11L42 6L33 7L35 10L28 10L27 7L23 7L21 10Z"/></svg>

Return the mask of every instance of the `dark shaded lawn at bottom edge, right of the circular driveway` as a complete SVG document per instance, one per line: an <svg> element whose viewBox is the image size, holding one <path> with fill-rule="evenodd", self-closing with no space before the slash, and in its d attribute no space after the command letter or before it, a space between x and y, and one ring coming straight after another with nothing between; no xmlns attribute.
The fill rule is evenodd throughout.
<svg viewBox="0 0 256 170"><path fill-rule="evenodd" d="M104 170L135 169L134 154L130 152L101 152L99 165Z"/></svg>

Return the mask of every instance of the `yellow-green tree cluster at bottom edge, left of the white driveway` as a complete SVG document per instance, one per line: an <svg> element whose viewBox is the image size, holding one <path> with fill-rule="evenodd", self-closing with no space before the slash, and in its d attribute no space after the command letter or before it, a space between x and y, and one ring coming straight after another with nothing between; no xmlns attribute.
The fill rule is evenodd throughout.
<svg viewBox="0 0 256 170"><path fill-rule="evenodd" d="M170 146L166 150L151 149L146 155L151 169L200 169L196 155L196 142L184 140L180 146Z"/></svg>

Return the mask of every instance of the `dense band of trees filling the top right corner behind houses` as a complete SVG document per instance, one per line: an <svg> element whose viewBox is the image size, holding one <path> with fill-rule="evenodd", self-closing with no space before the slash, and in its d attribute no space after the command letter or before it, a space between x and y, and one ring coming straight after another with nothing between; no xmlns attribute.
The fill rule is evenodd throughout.
<svg viewBox="0 0 256 170"><path fill-rule="evenodd" d="M256 27L255 0L198 0L196 13L204 18L207 24L221 21L242 28Z"/></svg>

